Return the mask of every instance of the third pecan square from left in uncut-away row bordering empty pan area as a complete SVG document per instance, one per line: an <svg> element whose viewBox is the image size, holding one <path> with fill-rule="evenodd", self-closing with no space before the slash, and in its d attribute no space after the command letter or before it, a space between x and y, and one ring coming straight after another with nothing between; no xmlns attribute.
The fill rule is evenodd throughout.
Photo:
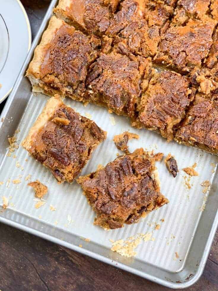
<svg viewBox="0 0 218 291"><path fill-rule="evenodd" d="M173 130L185 117L194 97L190 80L172 71L156 73L142 94L139 116L133 126L156 130L173 140Z"/></svg>

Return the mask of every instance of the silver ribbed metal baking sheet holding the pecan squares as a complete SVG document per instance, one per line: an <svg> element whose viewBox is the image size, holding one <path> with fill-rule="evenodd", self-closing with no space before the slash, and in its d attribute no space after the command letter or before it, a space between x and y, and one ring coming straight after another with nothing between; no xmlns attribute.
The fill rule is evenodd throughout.
<svg viewBox="0 0 218 291"><path fill-rule="evenodd" d="M167 143L155 132L131 128L127 118L109 114L105 108L92 104L84 107L80 102L65 99L66 104L82 115L90 114L92 119L108 132L107 140L93 153L82 174L90 173L96 170L98 164L106 165L116 158L118 150L112 139L115 134L124 130L140 135L139 140L131 141L131 151L143 147L163 152L165 156L171 153L177 159L180 172L175 179L168 173L163 161L157 163L161 192L170 203L141 219L138 224L110 231L93 225L95 214L76 182L71 185L58 185L50 171L29 156L21 146L10 157L7 156L8 136L13 136L15 130L19 129L16 136L17 143L20 143L49 98L31 92L31 84L25 78L25 72L56 2L53 0L50 4L0 117L4 119L0 122L0 181L4 182L0 186L0 222L167 287L188 287L201 276L217 229L217 156L174 142ZM112 117L115 125L111 123ZM187 175L182 168L195 162L195 170L199 176L190 179L191 189L188 190L184 181L184 176ZM49 189L44 197L47 202L39 209L35 208L33 190L27 186L28 181L25 178L29 174L32 181L39 179ZM21 183L14 184L12 181L16 179L20 179ZM210 191L206 194L202 192L203 187L200 185L205 180L211 183ZM4 211L1 208L2 196L9 199L9 206ZM51 211L50 205L53 205L56 211ZM164 222L161 222L161 219L164 219ZM160 224L159 230L155 230L156 224ZM122 257L110 250L112 243L109 239L116 241L137 233L152 233L153 240L141 242L136 248L136 257ZM90 241L85 241L84 238L89 238ZM176 258L176 253L179 258Z"/></svg>

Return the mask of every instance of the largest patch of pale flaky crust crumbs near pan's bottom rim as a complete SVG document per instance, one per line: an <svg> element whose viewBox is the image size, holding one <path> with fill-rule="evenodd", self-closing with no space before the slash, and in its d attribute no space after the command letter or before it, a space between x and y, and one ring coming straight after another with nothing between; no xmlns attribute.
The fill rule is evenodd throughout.
<svg viewBox="0 0 218 291"><path fill-rule="evenodd" d="M151 233L138 233L137 235L133 235L132 237L127 238L125 241L123 239L115 242L112 242L112 240L110 240L112 242L111 250L113 252L117 252L124 257L134 257L136 255L135 249L139 245L139 243L141 243L142 239L145 242L153 240L151 236Z"/></svg>

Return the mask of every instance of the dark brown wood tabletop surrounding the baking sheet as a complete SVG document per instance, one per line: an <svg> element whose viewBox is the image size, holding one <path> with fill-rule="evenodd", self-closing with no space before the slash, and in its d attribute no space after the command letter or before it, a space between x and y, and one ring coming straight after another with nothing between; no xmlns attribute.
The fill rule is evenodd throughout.
<svg viewBox="0 0 218 291"><path fill-rule="evenodd" d="M21 0L33 38L49 1ZM4 103L0 105L0 110ZM0 224L0 290L169 290L110 265ZM203 275L190 291L218 290L218 232Z"/></svg>

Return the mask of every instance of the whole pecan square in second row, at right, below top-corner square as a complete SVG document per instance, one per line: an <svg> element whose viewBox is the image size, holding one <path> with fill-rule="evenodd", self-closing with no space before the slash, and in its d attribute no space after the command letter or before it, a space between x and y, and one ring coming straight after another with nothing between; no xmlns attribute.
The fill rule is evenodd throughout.
<svg viewBox="0 0 218 291"><path fill-rule="evenodd" d="M212 45L214 22L189 19L181 26L171 25L158 45L154 61L179 72L201 67Z"/></svg>

